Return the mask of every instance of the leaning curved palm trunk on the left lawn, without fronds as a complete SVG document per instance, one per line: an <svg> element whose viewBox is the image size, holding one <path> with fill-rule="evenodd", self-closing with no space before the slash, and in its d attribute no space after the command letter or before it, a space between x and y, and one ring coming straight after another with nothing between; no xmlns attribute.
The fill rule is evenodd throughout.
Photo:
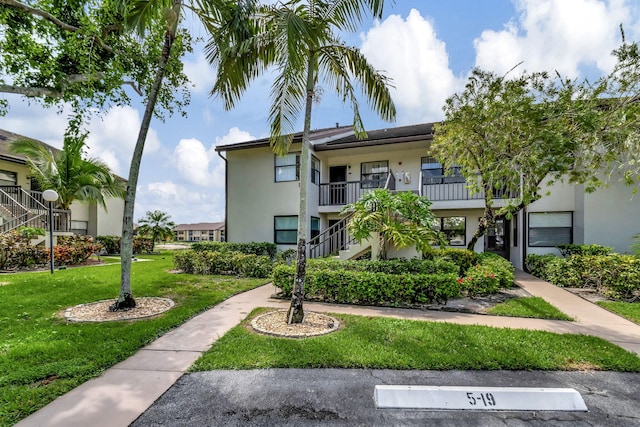
<svg viewBox="0 0 640 427"><path fill-rule="evenodd" d="M174 1L174 10L176 13L180 12L180 1ZM131 158L131 166L129 168L129 182L127 184L127 195L124 200L124 215L122 218L122 240L120 249L120 295L115 303L109 307L109 311L129 310L136 306L136 301L131 293L131 258L133 257L133 209L136 200L136 189L138 186L138 175L140 174L140 163L142 162L142 153L144 151L144 143L147 140L147 133L149 132L149 126L151 124L151 117L153 116L153 110L156 106L158 99L158 93L160 92L160 86L162 85L162 79L167 68L167 62L171 55L171 47L176 38L177 21L179 17L176 17L176 21L171 28L167 29L164 36L164 46L162 47L162 55L158 61L158 71L156 72L153 86L149 92L149 99L147 100L147 106L144 110L144 116L142 117L142 123L140 125L140 132L138 133L138 139L136 146L133 150L133 156Z"/></svg>

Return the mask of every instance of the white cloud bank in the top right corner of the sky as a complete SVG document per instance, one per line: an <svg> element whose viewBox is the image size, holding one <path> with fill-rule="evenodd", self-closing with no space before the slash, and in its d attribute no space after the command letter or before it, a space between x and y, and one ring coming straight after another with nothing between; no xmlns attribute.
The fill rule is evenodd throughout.
<svg viewBox="0 0 640 427"><path fill-rule="evenodd" d="M476 66L505 73L523 62L527 71L578 77L583 67L611 70L619 25L637 28L626 0L517 0L517 22L485 30L474 42ZM635 31L635 30L632 30Z"/></svg>

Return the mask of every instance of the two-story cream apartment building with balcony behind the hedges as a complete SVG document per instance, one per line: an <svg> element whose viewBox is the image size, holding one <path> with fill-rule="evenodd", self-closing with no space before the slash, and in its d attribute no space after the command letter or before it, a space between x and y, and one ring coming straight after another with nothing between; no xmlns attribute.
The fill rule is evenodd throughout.
<svg viewBox="0 0 640 427"><path fill-rule="evenodd" d="M429 153L430 123L379 129L358 140L349 127L315 131L311 138L308 194L309 256L326 256L350 245L340 214L372 188L427 196L451 247L464 248L482 215L482 194L471 194L456 171L445 171ZM289 154L275 156L269 140L216 148L226 160L226 233L233 242L274 242L295 248L301 134ZM224 153L224 155L222 154ZM448 172L448 173L447 173ZM581 186L555 184L550 195L512 220L500 221L475 250L499 253L522 267L528 253L554 252L562 243L599 243L627 252L640 232L640 201L612 183L587 194ZM496 200L496 206L507 200ZM400 256L417 255L404 251Z"/></svg>

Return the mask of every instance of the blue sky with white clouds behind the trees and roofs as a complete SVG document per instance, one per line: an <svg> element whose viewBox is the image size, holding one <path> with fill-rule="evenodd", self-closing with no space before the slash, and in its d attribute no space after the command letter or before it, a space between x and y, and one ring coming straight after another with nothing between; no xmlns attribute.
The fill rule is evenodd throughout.
<svg viewBox="0 0 640 427"><path fill-rule="evenodd" d="M637 0L396 0L380 21L344 34L379 70L393 79L398 109L395 124L380 121L361 105L365 126L379 129L440 120L444 100L464 87L474 67L504 73L522 62L527 71L558 70L591 78L610 71L610 52L620 44L619 25L629 40L640 40ZM203 35L197 27L195 35ZM272 76L255 81L232 111L209 97L212 70L201 46L185 59L194 87L188 117L154 120L147 139L134 219L160 209L176 223L224 220L224 163L216 145L268 135ZM11 109L0 128L62 145L64 114L8 96ZM106 112L90 125L89 154L128 176L144 106ZM348 124L348 108L327 90L314 105L312 127Z"/></svg>

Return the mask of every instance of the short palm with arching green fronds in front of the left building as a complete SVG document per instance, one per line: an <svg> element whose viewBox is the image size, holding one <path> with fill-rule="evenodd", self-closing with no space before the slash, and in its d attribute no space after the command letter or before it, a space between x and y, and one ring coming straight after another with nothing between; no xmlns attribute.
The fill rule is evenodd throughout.
<svg viewBox="0 0 640 427"><path fill-rule="evenodd" d="M65 135L62 150L51 150L30 139L14 141L9 149L25 156L40 188L58 193L60 209L69 209L74 200L97 203L106 209L106 199L124 197L125 184L105 163L85 156L86 137Z"/></svg>

